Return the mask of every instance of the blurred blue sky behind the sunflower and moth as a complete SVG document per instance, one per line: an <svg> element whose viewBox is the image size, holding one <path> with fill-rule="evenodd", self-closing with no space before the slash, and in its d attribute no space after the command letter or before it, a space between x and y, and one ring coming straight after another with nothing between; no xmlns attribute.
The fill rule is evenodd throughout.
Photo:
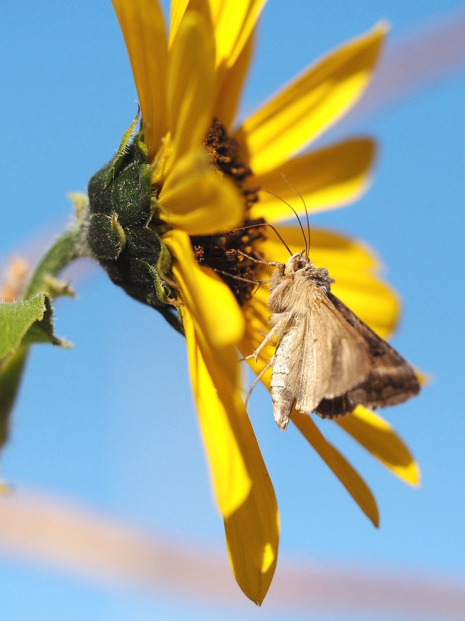
<svg viewBox="0 0 465 621"><path fill-rule="evenodd" d="M215 596L213 581L211 597L204 586L197 598L166 585L117 586L108 576L94 579L10 550L0 557L5 619L236 619L239 610L247 619L410 619L408 610L394 615L382 603L353 609L344 600L344 576L360 576L363 584L363 576L379 573L399 584L461 588L465 2L270 0L242 116L310 61L381 18L392 30L379 78L358 111L321 140L376 137L373 186L355 205L312 217L312 224L369 243L401 294L404 313L392 343L432 381L417 399L384 415L419 461L422 487L405 486L323 421L326 437L378 500L381 528L375 530L299 432L278 431L269 396L257 388L250 417L280 505L281 545L270 594L256 608L229 575L183 339L82 262L74 272L78 299L56 303L56 330L75 347L33 349L2 476L23 493L69 501L181 551L211 555L228 595ZM42 252L63 230L66 193L86 191L115 152L135 115L136 92L109 1L3 0L0 32L5 265L14 252ZM319 607L286 602L289 563L334 584ZM368 583L366 590L368 602Z"/></svg>

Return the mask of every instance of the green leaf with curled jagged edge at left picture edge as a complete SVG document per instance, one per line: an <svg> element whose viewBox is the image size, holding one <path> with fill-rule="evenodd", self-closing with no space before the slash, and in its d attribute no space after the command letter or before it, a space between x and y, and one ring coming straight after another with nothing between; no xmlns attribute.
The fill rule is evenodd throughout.
<svg viewBox="0 0 465 621"><path fill-rule="evenodd" d="M0 360L14 353L23 342L69 347L53 333L53 309L47 293L39 293L25 302L0 304Z"/></svg>

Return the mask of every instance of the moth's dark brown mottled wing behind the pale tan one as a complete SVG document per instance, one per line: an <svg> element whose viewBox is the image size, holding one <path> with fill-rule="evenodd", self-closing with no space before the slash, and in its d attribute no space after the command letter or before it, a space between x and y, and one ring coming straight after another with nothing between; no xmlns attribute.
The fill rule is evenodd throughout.
<svg viewBox="0 0 465 621"><path fill-rule="evenodd" d="M360 383L344 391L344 394L340 393L339 397L326 395L316 411L325 416L335 416L351 412L357 405L394 406L417 394L420 384L409 363L358 319L339 298L330 294L329 300L345 322L365 341L370 356L370 370Z"/></svg>

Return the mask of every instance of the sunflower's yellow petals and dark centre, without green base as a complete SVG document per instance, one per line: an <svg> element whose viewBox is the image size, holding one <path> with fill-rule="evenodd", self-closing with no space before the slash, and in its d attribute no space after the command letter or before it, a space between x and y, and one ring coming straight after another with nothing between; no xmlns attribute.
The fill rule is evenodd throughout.
<svg viewBox="0 0 465 621"><path fill-rule="evenodd" d="M172 0L167 34L157 0L113 0L141 105L140 148L149 163L156 230L172 258L174 282L166 282L180 302L229 560L242 591L257 604L275 571L279 517L242 399L238 350L250 353L268 330L267 291L261 288L252 296L253 285L234 276L257 280L262 274L237 251L272 261L287 256L265 226L224 232L288 219L288 209L267 193L294 198L283 173L303 194L310 211L347 204L363 192L374 156L370 139L296 153L363 93L386 32L383 24L377 25L330 53L236 126L264 4L265 0ZM292 252L302 249L299 229L279 230ZM376 276L378 264L370 250L334 233L312 230L310 255L335 278L335 294L386 337L396 322L398 304ZM262 354L258 365L252 365L254 371L262 368L270 351ZM263 379L266 383L267 377ZM294 411L291 420L377 525L376 502L359 474L309 415ZM412 456L377 414L359 407L337 424L394 474L418 483Z"/></svg>

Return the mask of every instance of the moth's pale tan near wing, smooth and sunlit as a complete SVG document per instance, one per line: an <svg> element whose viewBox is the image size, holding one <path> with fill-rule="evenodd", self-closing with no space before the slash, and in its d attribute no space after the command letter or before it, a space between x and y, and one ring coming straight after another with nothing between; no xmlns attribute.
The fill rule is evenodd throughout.
<svg viewBox="0 0 465 621"><path fill-rule="evenodd" d="M296 334L290 365L290 388L296 407L312 412L360 384L370 372L365 339L324 292L316 290Z"/></svg>

